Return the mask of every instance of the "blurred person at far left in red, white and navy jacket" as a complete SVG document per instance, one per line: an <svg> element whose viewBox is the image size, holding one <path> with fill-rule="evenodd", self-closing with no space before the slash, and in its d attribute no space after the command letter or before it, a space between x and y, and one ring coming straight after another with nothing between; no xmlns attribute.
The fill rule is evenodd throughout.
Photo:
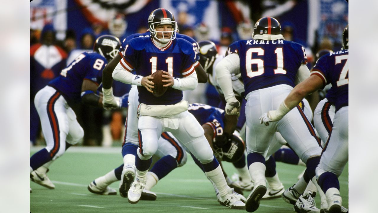
<svg viewBox="0 0 378 213"><path fill-rule="evenodd" d="M34 106L34 96L65 67L67 53L56 45L56 31L46 24L40 42L30 47L30 142L35 145L40 131L40 120Z"/></svg>

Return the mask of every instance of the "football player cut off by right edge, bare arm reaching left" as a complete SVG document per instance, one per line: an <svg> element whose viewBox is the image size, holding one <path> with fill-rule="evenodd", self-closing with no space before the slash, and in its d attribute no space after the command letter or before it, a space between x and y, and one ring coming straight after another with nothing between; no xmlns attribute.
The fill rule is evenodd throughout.
<svg viewBox="0 0 378 213"><path fill-rule="evenodd" d="M348 161L348 109L349 109L349 36L348 26L343 32L343 50L322 56L312 69L311 76L297 85L279 105L277 110L261 116L261 122L269 125L277 122L311 92L332 84L335 92L335 117L333 127L316 168L316 178L325 193L328 208L326 212L342 211L338 177ZM315 180L316 181L316 180Z"/></svg>

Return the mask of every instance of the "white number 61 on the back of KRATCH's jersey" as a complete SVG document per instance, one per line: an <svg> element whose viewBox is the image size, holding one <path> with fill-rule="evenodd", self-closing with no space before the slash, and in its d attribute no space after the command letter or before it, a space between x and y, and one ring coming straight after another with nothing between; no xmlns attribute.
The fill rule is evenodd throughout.
<svg viewBox="0 0 378 213"><path fill-rule="evenodd" d="M247 76L253 78L264 74L264 60L260 58L252 58L252 53L257 55L264 55L262 48L250 48L246 52L245 69L247 70ZM274 74L286 74L286 70L283 69L283 50L282 47L276 48L274 53L277 54L277 69L274 69ZM257 64L257 71L252 71L252 64Z"/></svg>

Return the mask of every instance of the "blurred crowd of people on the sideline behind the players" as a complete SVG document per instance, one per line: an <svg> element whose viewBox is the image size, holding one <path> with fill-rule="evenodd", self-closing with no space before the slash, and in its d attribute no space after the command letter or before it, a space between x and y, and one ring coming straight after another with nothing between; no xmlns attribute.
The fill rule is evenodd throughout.
<svg viewBox="0 0 378 213"><path fill-rule="evenodd" d="M283 1L297 2L297 1ZM342 5L340 5L342 6ZM264 14L269 15L269 14ZM253 33L254 21L259 17L251 11L251 19L240 22L236 30L232 30L228 26L220 26L220 39L214 41L211 39L209 26L205 23L196 25L187 24L187 16L184 11L176 16L178 29L180 33L186 34L194 38L197 42L203 40L212 40L218 48L218 53L225 55L228 45L232 42L243 39L251 39ZM143 17L145 18L145 17ZM280 20L282 35L285 40L298 42L305 47L309 60L308 67L312 68L314 63L314 53L321 49L330 49L338 51L341 48L342 32L339 28L344 28L348 22L345 17L321 17L318 30L314 36L313 45L302 39L296 38L296 31L306 29L298 28L294 23ZM333 22L332 22L333 21ZM331 22L331 23L330 23ZM145 25L140 25L138 30L133 33L144 33L147 31L147 20ZM37 111L34 107L34 96L37 91L42 89L53 78L60 74L65 66L71 63L77 55L84 51L91 51L93 44L101 35L112 34L117 36L121 42L126 36L131 34L127 32L128 25L132 25L132 20L122 13L117 13L104 26L102 23L92 23L90 27L82 29L82 31L74 31L68 29L65 32L65 38L57 39L56 30L52 23L46 23L41 29L30 29L30 142L32 145L43 145L43 138L40 130L40 121ZM335 34L336 33L336 34ZM114 81L113 91L115 96L122 96L130 89L130 85L125 85L118 81ZM205 96L203 94L206 94ZM198 84L195 91L189 91L184 94L184 99L189 103L206 103L212 106L218 106L220 101L218 93L209 83ZM84 129L84 146L112 146L113 141L121 143L124 136L124 122L127 109L106 111L94 107L88 107L82 104L71 106L76 115L77 120Z"/></svg>

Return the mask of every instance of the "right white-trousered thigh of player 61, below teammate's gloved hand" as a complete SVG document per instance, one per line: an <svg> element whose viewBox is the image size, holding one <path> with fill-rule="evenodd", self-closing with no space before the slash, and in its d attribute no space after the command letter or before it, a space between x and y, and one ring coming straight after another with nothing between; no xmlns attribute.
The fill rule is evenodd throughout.
<svg viewBox="0 0 378 213"><path fill-rule="evenodd" d="M304 163L311 156L321 155L322 149L315 131L303 111L297 107L277 121L277 131Z"/></svg>

